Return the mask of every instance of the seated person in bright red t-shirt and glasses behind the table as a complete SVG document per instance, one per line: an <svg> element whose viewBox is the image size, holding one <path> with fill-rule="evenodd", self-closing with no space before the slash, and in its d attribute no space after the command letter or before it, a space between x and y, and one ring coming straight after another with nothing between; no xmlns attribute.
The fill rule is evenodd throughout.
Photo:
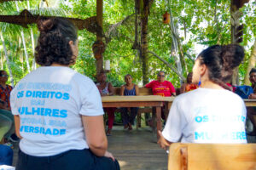
<svg viewBox="0 0 256 170"><path fill-rule="evenodd" d="M172 82L166 81L166 73L164 71L159 71L157 74L157 80L149 82L145 85L145 88L152 88L154 95L160 95L163 97L176 96L175 88L173 87ZM161 116L162 119L166 120L164 107L161 108Z"/></svg>

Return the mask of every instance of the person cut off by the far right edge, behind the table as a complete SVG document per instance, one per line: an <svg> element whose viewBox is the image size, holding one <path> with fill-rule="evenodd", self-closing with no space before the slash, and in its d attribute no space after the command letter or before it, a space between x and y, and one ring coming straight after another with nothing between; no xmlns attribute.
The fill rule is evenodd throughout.
<svg viewBox="0 0 256 170"><path fill-rule="evenodd" d="M253 68L249 73L250 82L252 82L253 93L249 95L249 99L256 99L256 69ZM247 116L253 123L253 131L247 133L250 136L256 136L256 107L247 107Z"/></svg>

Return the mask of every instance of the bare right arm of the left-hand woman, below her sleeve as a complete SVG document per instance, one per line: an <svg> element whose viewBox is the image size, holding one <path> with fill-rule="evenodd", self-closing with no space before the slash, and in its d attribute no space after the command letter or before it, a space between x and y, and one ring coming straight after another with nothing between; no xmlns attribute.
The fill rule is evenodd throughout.
<svg viewBox="0 0 256 170"><path fill-rule="evenodd" d="M105 156L108 140L104 130L103 116L82 116L86 142L96 156Z"/></svg>

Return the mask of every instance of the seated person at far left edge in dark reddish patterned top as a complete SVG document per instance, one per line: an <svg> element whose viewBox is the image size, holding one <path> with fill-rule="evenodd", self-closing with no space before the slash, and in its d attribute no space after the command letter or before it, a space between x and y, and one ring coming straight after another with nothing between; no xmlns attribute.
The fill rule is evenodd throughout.
<svg viewBox="0 0 256 170"><path fill-rule="evenodd" d="M9 131L4 135L5 139L10 140L12 142L17 142L19 138L15 135L15 121L14 116L11 112L9 101L10 93L13 88L6 84L6 82L8 81L8 77L9 76L6 71L0 71L0 115L2 115L2 118L0 117L0 119L4 119L3 116L5 116L9 119L9 122L11 122ZM6 120L7 119L5 118L2 121Z"/></svg>

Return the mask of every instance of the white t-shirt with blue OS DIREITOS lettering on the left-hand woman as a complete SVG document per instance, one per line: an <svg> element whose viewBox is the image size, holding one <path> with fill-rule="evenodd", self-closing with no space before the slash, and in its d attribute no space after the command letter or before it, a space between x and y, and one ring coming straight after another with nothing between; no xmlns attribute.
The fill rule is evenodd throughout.
<svg viewBox="0 0 256 170"><path fill-rule="evenodd" d="M31 156L88 148L81 115L103 115L94 82L65 66L32 71L12 90L10 101L20 116L20 150Z"/></svg>

